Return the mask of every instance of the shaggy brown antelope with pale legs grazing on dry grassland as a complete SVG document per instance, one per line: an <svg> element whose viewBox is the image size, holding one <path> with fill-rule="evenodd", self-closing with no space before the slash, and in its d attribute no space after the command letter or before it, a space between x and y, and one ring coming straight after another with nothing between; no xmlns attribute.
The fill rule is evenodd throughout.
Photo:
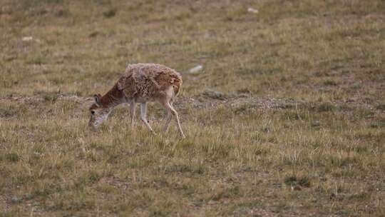
<svg viewBox="0 0 385 217"><path fill-rule="evenodd" d="M180 136L185 134L180 126L178 112L173 108L173 100L180 92L182 76L173 69L160 64L131 64L125 69L113 88L104 96L93 96L95 102L90 107L91 118L88 126L97 128L119 104L130 104L131 127L135 124L136 104L140 103L140 118L145 126L154 133L147 121L147 103L158 101L167 110L164 131L168 130L171 118L178 123ZM155 134L155 133L154 133Z"/></svg>

